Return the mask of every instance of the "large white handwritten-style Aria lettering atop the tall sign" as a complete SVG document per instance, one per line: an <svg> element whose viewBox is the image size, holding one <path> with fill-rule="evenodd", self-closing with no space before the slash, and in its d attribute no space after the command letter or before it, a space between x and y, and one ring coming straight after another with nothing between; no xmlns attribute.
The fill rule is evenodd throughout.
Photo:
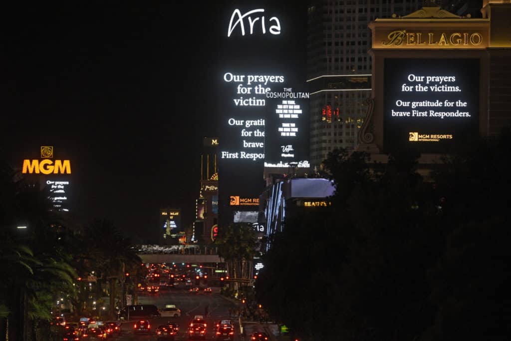
<svg viewBox="0 0 511 341"><path fill-rule="evenodd" d="M254 27L258 30L261 29L261 32L265 34L266 19L262 13L264 13L264 9L262 8L248 11L245 14L241 14L239 9L235 9L233 15L230 16L227 37L230 37L236 28L239 28L241 35L244 36L245 24L248 24L247 28L250 30L250 35L254 33ZM274 35L281 34L281 22L278 20L278 18L272 16L268 21L270 25L273 24L269 27L268 31Z"/></svg>

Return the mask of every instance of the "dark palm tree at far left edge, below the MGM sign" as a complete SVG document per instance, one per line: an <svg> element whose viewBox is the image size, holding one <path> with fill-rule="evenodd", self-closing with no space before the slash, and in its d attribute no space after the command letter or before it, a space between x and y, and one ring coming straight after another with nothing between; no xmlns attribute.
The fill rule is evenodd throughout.
<svg viewBox="0 0 511 341"><path fill-rule="evenodd" d="M0 162L0 341L9 319L9 338L24 339L31 323L49 320L55 296L72 293L74 271L69 254L51 225L48 194L27 186L6 163ZM19 221L28 231L18 231ZM51 302L50 302L51 301Z"/></svg>

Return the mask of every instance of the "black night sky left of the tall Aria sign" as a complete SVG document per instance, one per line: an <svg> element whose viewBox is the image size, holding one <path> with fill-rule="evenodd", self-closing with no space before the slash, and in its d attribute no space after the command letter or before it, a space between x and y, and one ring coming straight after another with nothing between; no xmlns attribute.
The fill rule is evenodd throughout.
<svg viewBox="0 0 511 341"><path fill-rule="evenodd" d="M3 8L0 152L21 167L54 146L72 163L74 213L134 241L154 235L160 207L191 224L202 139L218 134L222 4L184 6Z"/></svg>

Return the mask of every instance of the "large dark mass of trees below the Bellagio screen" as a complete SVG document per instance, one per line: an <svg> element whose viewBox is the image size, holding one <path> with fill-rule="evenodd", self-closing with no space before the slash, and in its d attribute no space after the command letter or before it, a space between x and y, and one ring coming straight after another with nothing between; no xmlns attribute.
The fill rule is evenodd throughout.
<svg viewBox="0 0 511 341"><path fill-rule="evenodd" d="M305 340L509 339L510 137L481 139L428 177L413 152L375 164L332 151L332 206L288 216L258 300Z"/></svg>

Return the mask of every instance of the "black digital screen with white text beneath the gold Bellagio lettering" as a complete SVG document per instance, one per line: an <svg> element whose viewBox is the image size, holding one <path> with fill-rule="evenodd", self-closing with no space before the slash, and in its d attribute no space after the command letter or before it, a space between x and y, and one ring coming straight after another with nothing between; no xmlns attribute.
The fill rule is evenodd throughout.
<svg viewBox="0 0 511 341"><path fill-rule="evenodd" d="M384 149L445 153L478 134L479 59L385 59Z"/></svg>

